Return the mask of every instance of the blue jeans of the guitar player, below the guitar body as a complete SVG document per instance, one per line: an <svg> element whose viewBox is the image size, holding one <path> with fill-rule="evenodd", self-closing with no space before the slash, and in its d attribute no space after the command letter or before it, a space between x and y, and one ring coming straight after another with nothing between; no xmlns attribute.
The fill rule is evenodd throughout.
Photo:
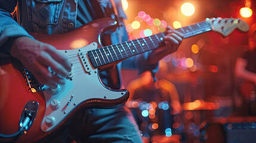
<svg viewBox="0 0 256 143"><path fill-rule="evenodd" d="M73 117L51 142L143 142L131 111L121 105L112 109L92 108Z"/></svg>

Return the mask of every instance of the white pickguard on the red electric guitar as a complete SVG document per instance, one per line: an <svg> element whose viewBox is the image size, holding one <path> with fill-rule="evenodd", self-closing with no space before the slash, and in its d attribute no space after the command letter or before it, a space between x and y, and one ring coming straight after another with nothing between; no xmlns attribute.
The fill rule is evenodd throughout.
<svg viewBox="0 0 256 143"><path fill-rule="evenodd" d="M85 56L87 56L87 51L95 48L97 48L97 43L91 43L80 49L59 50L69 58L71 63L73 62L73 77L72 80L66 79L65 85L60 85L60 92L58 92L58 94L53 94L50 91L50 88L46 88L43 91L46 101L46 109L44 119L41 123L41 129L44 132L49 132L56 128L74 108L78 107L79 104L86 100L95 98L115 100L127 94L125 91L111 91L106 88L100 80L98 70L93 69L90 64L87 64L88 68L90 68L90 72L87 72L84 69L84 65L82 64L78 53L84 52ZM87 63L89 63L88 58ZM70 98L72 99L70 100ZM52 100L58 100L60 102L60 107L57 110L53 110L50 107L50 102ZM49 123L47 124L45 122L47 117L48 119L50 118L53 120L51 126L49 126Z"/></svg>

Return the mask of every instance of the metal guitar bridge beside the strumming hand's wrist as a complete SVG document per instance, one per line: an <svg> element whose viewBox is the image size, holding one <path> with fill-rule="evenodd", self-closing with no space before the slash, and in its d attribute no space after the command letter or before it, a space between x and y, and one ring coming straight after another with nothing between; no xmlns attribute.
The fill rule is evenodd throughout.
<svg viewBox="0 0 256 143"><path fill-rule="evenodd" d="M27 82L27 86L29 86L29 90L32 93L41 91L42 85L38 82L38 80L36 80L35 76L32 73L30 73L30 71L27 70L26 68L24 68L23 72Z"/></svg>

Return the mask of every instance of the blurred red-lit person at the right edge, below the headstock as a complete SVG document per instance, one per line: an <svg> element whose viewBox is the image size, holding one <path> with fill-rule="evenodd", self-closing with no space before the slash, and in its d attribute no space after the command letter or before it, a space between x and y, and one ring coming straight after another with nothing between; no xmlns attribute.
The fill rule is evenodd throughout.
<svg viewBox="0 0 256 143"><path fill-rule="evenodd" d="M249 31L249 51L236 60L235 74L244 82L240 84L240 94L249 104L249 115L256 115L256 24Z"/></svg>

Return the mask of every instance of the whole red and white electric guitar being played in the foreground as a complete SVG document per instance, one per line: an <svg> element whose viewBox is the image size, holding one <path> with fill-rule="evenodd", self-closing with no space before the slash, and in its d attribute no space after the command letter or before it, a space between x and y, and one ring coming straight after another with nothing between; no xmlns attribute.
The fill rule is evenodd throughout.
<svg viewBox="0 0 256 143"><path fill-rule="evenodd" d="M127 101L129 92L105 86L99 70L164 46L165 32L102 47L103 33L117 26L115 20L101 18L60 35L30 33L38 41L55 46L73 64L65 85L57 85L56 88L38 83L16 59L2 58L0 133L12 134L20 126L26 127L23 129L25 134L16 138L0 138L0 142L44 141L61 130L67 120L82 109L104 108ZM184 38L189 38L208 31L228 36L235 29L248 32L249 26L237 18L211 18L176 30L184 33Z"/></svg>

